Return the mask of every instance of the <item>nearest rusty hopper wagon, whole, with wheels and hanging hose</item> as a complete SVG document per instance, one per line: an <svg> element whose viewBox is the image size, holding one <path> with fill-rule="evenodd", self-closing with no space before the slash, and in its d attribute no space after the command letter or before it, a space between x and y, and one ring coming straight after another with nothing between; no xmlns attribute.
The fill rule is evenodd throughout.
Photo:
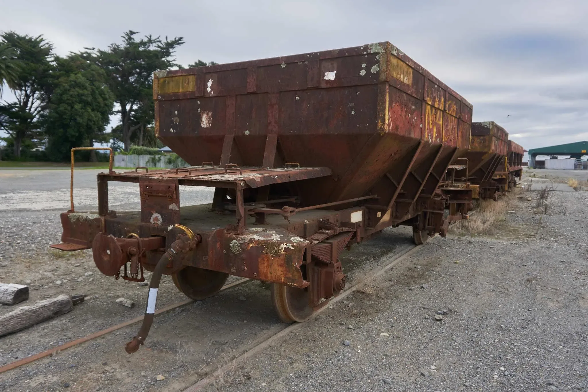
<svg viewBox="0 0 588 392"><path fill-rule="evenodd" d="M229 274L272 284L280 318L303 321L345 287L339 253L389 226L416 243L445 233L439 183L469 148L472 105L389 42L156 72L155 132L190 167L98 175L98 212L61 216L62 250L92 248L102 273L153 271L186 296ZM108 207L108 182L139 184L140 212ZM179 185L209 186L184 206ZM122 272L121 272L122 269Z"/></svg>

